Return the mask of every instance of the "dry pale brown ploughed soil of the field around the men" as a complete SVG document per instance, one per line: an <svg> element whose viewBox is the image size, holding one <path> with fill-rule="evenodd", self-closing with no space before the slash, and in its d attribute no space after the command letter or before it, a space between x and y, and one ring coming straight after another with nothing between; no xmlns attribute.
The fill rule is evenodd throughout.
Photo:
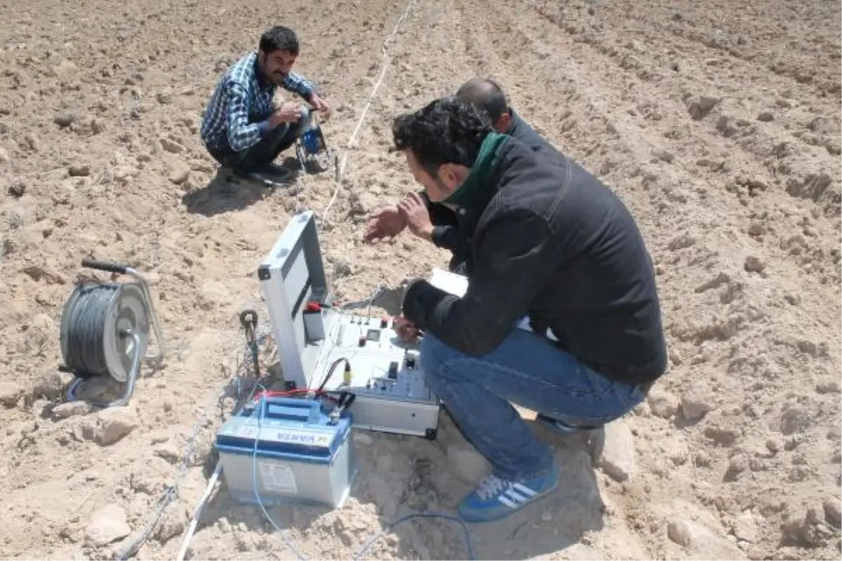
<svg viewBox="0 0 842 561"><path fill-rule="evenodd" d="M391 119L475 74L616 190L657 263L669 373L610 426L595 470L580 443L543 435L560 489L472 527L477 558L839 558L839 4L418 0L350 148L406 4L329 4L0 2L0 557L116 558L148 526L136 558L175 558L230 414L237 315L265 315L258 264L291 214L321 220L337 189L330 173L274 193L226 183L200 143L221 71L288 24L297 70L336 109L328 144L348 158L322 230L339 299L445 265L408 234L360 237L370 210L417 188L386 150ZM88 255L148 273L163 322L166 362L125 410L61 405L61 308ZM271 511L309 558L352 558L410 511L452 512L485 468L445 415L434 442L354 438L363 473L342 511ZM466 558L448 521L409 522L368 553ZM224 488L189 549L292 555Z"/></svg>

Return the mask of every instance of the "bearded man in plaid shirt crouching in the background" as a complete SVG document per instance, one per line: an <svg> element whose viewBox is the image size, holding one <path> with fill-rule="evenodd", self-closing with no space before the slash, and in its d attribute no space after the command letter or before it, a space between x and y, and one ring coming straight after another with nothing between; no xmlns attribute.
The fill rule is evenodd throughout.
<svg viewBox="0 0 842 561"><path fill-rule="evenodd" d="M216 84L201 136L210 156L237 175L283 180L289 171L274 165L274 159L309 128L311 107L325 118L330 115L315 87L292 71L297 56L296 33L273 27L260 38L257 52L234 63ZM278 86L297 93L310 107L290 102L275 107Z"/></svg>

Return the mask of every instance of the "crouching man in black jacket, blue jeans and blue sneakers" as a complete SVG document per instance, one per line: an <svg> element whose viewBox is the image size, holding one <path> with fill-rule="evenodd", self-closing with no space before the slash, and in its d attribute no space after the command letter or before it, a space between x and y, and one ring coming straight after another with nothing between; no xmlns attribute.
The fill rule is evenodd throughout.
<svg viewBox="0 0 842 561"><path fill-rule="evenodd" d="M665 371L653 264L632 215L596 177L494 132L471 105L438 99L392 132L430 201L465 225L466 294L414 281L397 325L424 333L430 388L493 466L459 514L495 520L558 480L551 449L510 404L560 430L602 426Z"/></svg>

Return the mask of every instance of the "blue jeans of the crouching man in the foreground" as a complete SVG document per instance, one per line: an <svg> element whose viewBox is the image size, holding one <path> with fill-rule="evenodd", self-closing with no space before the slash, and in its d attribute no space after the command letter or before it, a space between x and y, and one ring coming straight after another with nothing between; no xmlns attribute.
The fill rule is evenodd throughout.
<svg viewBox="0 0 842 561"><path fill-rule="evenodd" d="M605 378L552 341L521 329L481 357L458 352L429 333L420 350L429 388L504 479L552 467L552 450L509 402L569 426L600 426L646 397L637 385Z"/></svg>

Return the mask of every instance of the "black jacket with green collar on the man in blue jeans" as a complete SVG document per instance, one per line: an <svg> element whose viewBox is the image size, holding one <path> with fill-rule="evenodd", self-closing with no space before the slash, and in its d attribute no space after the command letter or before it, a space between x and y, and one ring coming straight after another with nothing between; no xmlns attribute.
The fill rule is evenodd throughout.
<svg viewBox="0 0 842 561"><path fill-rule="evenodd" d="M460 209L469 248L463 298L413 282L403 314L470 355L491 352L524 315L536 333L608 378L645 383L666 369L653 264L625 205L565 156L520 140Z"/></svg>

